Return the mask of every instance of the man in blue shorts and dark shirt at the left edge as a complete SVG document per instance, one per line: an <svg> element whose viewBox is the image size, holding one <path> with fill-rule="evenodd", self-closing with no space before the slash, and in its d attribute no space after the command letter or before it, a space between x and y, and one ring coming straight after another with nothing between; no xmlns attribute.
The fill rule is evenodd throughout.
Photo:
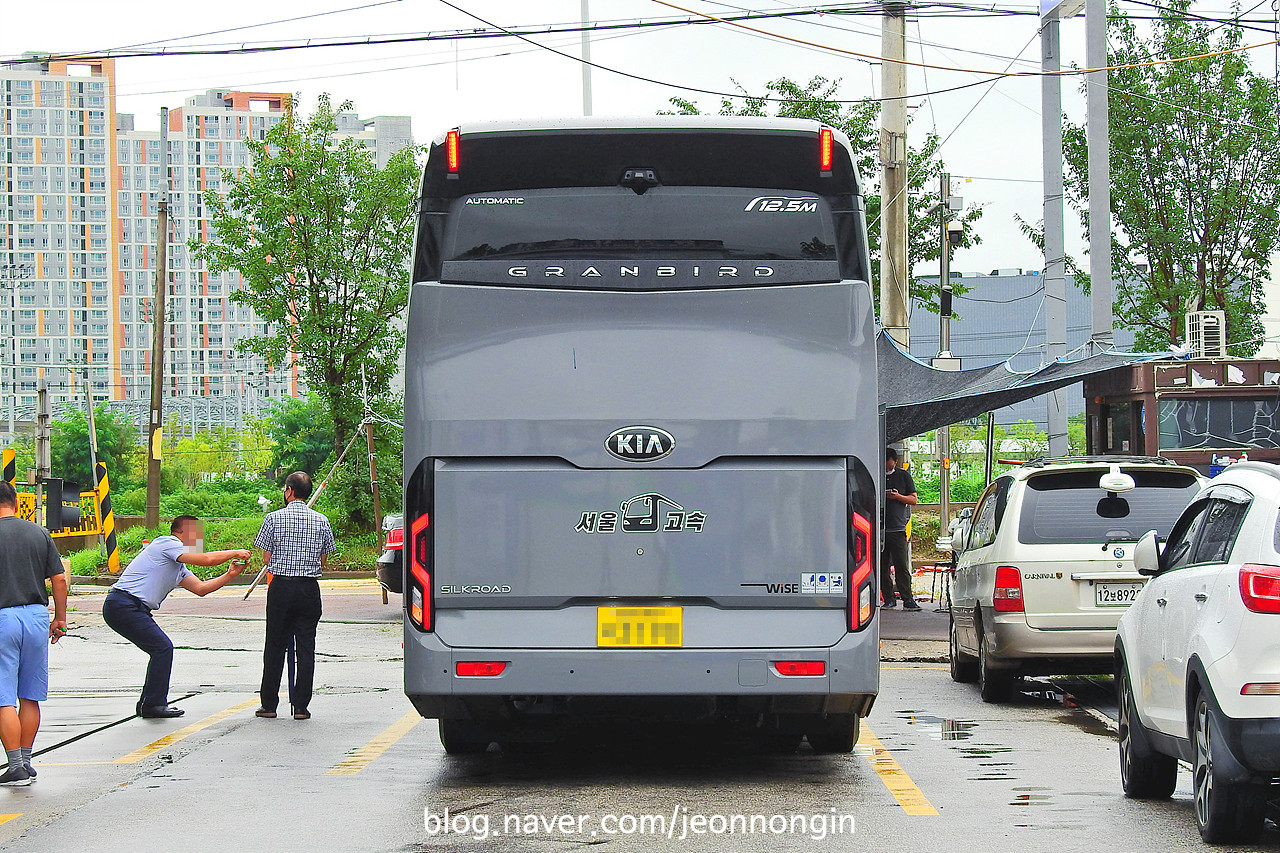
<svg viewBox="0 0 1280 853"><path fill-rule="evenodd" d="M49 532L17 517L18 493L0 480L0 742L9 758L0 785L36 779L31 749L49 698L49 643L67 633L67 574ZM49 592L54 589L54 619ZM22 703L19 706L19 702Z"/></svg>

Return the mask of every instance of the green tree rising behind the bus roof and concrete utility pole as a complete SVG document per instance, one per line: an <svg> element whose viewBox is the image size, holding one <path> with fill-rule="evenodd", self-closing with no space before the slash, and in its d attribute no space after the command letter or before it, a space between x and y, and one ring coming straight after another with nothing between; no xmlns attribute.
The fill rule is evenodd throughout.
<svg viewBox="0 0 1280 853"><path fill-rule="evenodd" d="M879 264L881 264L881 196L879 181L879 101L863 99L855 102L844 102L837 99L840 92L838 79L814 77L808 83L800 83L780 77L765 83L768 95L749 96L735 101L723 99L719 106L721 115L777 115L781 118L808 118L841 131L849 137L854 158L858 163L858 172L867 188L867 231L870 241L872 278L877 296L879 293ZM744 92L745 93L745 92ZM769 100L774 99L774 100ZM782 99L781 102L776 99ZM680 115L698 115L699 106L684 97L671 99L671 104ZM769 110L773 110L769 113ZM941 140L937 133L925 133L923 142L918 147L908 151L909 202L908 202L908 254L910 268L918 264L937 261L941 256L938 251L938 184L946 164L938 158ZM959 216L964 224L964 232L959 240L952 242L952 250L968 248L982 242L975 224L982 218L982 207L969 206ZM934 277L937 278L937 277ZM961 279L952 282L956 293L968 291ZM938 283L925 282L920 278L911 280L911 298L934 314L940 310Z"/></svg>

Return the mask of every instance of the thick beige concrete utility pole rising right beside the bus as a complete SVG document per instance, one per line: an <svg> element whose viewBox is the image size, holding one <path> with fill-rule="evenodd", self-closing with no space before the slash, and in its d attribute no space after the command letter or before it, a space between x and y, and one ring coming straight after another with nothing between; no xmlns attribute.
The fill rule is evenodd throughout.
<svg viewBox="0 0 1280 853"><path fill-rule="evenodd" d="M884 5L881 29L881 327L899 346L911 343L910 282L906 250L906 6Z"/></svg>

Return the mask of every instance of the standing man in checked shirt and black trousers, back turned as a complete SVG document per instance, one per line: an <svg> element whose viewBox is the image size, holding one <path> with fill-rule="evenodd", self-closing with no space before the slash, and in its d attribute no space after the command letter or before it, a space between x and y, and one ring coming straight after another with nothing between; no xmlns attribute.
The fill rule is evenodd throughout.
<svg viewBox="0 0 1280 853"><path fill-rule="evenodd" d="M316 670L316 625L320 622L320 573L337 551L329 519L307 506L311 478L294 471L284 479L284 508L269 512L253 546L271 573L266 590L266 647L262 651L260 717L275 717L289 635L297 649L293 719L310 720Z"/></svg>

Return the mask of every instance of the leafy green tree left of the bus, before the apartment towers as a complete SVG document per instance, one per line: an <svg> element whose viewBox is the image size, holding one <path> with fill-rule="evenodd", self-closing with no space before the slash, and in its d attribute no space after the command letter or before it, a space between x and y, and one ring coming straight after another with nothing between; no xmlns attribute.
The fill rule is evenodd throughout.
<svg viewBox="0 0 1280 853"><path fill-rule="evenodd" d="M206 193L214 233L189 243L210 272L243 275L232 298L269 330L241 346L301 365L329 409L334 446L361 420L362 383L376 398L396 373L419 178L419 149L379 169L370 149L339 138L338 117L353 109L321 96L303 120L291 102L265 140L244 141L252 168Z"/></svg>

